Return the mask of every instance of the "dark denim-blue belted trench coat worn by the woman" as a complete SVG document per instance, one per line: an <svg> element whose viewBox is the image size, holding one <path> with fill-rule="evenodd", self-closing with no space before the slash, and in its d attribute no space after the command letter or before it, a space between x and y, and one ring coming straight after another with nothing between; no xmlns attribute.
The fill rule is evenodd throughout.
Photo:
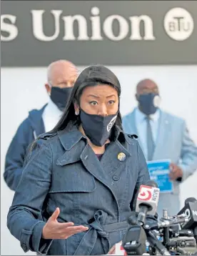
<svg viewBox="0 0 197 256"><path fill-rule="evenodd" d="M149 180L138 142L116 131L101 161L76 127L45 134L36 146L9 210L11 234L24 252L106 254L122 240L138 188ZM118 159L119 153L125 154L123 161ZM66 240L44 240L43 227L56 207L60 208L59 222L74 222L89 230ZM43 221L38 220L41 212Z"/></svg>

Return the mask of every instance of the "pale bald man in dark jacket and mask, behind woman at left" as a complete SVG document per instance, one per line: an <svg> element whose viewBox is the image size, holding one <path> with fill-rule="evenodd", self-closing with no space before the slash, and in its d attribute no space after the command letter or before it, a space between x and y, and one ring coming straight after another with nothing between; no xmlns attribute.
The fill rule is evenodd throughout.
<svg viewBox="0 0 197 256"><path fill-rule="evenodd" d="M77 69L70 61L54 61L48 67L46 92L49 102L41 109L33 109L22 122L6 153L4 179L10 189L16 190L22 174L26 149L44 132L53 129L61 118L77 77Z"/></svg>

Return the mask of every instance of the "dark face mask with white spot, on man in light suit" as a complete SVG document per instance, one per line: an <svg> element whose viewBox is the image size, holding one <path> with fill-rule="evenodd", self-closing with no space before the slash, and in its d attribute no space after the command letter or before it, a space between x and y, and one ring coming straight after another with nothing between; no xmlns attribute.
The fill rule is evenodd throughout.
<svg viewBox="0 0 197 256"><path fill-rule="evenodd" d="M158 109L160 98L158 94L141 94L138 97L139 109L144 114L154 114Z"/></svg>

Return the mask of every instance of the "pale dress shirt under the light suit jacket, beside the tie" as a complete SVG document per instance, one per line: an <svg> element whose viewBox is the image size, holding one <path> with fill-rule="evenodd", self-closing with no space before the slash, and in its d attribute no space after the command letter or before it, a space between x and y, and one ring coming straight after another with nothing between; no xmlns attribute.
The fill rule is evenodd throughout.
<svg viewBox="0 0 197 256"><path fill-rule="evenodd" d="M160 117L160 110L157 109L155 114L151 114L151 129L153 134L153 142L156 144L156 139L158 135L158 122ZM136 119L136 128L138 131L138 137L141 140L143 154L146 159L148 159L148 149L147 149L147 121L146 121L146 114L143 114L138 108L136 108L135 112L135 119Z"/></svg>

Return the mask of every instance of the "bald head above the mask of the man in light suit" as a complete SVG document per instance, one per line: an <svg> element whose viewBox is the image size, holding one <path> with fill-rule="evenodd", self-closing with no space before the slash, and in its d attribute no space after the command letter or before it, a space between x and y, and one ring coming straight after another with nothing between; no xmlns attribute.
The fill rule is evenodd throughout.
<svg viewBox="0 0 197 256"><path fill-rule="evenodd" d="M140 94L156 93L158 94L158 86L151 79L143 79L138 82L136 87L137 96Z"/></svg>

